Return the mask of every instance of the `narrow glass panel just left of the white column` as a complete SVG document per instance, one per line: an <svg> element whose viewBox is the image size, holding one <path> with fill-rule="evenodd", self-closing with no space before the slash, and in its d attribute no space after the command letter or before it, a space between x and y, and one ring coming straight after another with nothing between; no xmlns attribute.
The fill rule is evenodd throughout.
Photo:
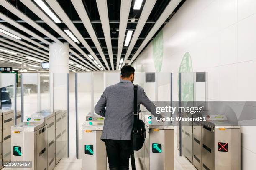
<svg viewBox="0 0 256 170"><path fill-rule="evenodd" d="M50 110L50 74L40 74L40 109Z"/></svg>

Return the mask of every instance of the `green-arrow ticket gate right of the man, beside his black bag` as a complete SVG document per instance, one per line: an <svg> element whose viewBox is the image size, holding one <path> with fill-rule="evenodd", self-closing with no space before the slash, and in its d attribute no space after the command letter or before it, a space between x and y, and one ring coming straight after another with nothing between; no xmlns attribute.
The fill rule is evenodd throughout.
<svg viewBox="0 0 256 170"><path fill-rule="evenodd" d="M142 112L146 139L141 149L143 170L174 170L174 126L152 123L149 112Z"/></svg>

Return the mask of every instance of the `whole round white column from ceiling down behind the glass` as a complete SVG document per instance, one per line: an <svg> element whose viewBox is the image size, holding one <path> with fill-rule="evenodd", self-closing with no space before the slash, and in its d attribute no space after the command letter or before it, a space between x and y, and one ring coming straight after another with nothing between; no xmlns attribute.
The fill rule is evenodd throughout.
<svg viewBox="0 0 256 170"><path fill-rule="evenodd" d="M67 99L65 89L67 88L66 79L69 73L69 44L52 43L49 48L50 107L51 112L53 112L54 109L66 109L66 105L62 103L66 103Z"/></svg>

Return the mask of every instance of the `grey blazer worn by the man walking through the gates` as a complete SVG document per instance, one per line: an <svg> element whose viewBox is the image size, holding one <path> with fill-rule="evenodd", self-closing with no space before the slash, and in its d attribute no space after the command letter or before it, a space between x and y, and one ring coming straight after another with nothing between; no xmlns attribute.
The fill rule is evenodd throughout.
<svg viewBox="0 0 256 170"><path fill-rule="evenodd" d="M142 87L138 86L138 110L143 104L155 115L156 107L148 99ZM133 128L133 83L128 80L107 87L95 106L95 112L105 117L101 138L130 140ZM106 109L105 109L106 107Z"/></svg>

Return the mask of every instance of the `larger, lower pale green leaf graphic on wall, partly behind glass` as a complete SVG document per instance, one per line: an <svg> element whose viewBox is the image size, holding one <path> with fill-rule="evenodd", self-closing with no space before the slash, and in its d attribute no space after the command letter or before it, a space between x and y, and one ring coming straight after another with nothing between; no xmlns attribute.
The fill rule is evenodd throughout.
<svg viewBox="0 0 256 170"><path fill-rule="evenodd" d="M192 101L194 99L194 85L193 85L193 67L189 52L183 56L179 65L179 72L181 72L181 100ZM178 76L179 87L179 76ZM179 97L179 90L178 90Z"/></svg>

